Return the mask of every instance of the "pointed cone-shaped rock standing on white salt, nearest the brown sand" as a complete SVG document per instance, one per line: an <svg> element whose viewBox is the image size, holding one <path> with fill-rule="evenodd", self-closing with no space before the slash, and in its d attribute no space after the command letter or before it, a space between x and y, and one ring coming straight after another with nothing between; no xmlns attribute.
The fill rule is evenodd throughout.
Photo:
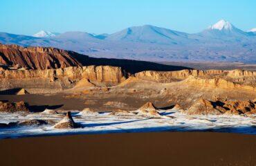
<svg viewBox="0 0 256 166"><path fill-rule="evenodd" d="M54 125L55 129L75 129L78 127L80 127L80 125L73 120L70 111L66 113L66 116L60 120L60 122Z"/></svg>

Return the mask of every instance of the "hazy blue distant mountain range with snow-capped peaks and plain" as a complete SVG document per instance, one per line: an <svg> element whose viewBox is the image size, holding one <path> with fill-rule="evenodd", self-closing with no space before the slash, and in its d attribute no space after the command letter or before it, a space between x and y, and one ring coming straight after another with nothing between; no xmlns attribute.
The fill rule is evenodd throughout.
<svg viewBox="0 0 256 166"><path fill-rule="evenodd" d="M195 34L146 25L102 35L83 32L60 34L44 30L33 36L0 33L0 42L52 46L91 57L159 62L256 63L256 29L245 32L225 20Z"/></svg>

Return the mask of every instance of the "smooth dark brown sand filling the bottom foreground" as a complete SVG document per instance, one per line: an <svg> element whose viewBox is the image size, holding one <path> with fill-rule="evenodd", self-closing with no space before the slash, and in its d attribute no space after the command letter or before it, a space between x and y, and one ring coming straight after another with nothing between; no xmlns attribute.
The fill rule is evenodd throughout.
<svg viewBox="0 0 256 166"><path fill-rule="evenodd" d="M0 165L256 165L256 136L159 132L0 140Z"/></svg>

